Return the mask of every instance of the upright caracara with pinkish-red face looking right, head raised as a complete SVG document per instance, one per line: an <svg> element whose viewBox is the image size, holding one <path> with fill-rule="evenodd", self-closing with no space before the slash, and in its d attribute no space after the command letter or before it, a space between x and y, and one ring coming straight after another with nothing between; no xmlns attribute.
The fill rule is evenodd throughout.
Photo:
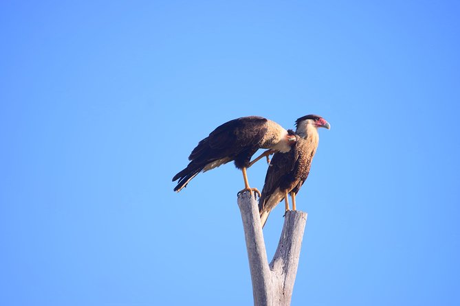
<svg viewBox="0 0 460 306"><path fill-rule="evenodd" d="M270 211L284 198L285 210L289 211L288 194L292 198L292 209L296 210L296 194L310 172L311 161L318 148L318 128L331 125L318 115L306 115L296 120L296 141L289 152L277 152L265 175L262 194L259 198L259 213L262 227L267 222Z"/></svg>

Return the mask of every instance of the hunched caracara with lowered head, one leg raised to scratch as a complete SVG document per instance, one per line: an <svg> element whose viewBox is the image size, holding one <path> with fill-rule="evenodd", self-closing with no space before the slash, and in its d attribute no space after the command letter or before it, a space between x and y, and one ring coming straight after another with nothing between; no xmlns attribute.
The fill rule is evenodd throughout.
<svg viewBox="0 0 460 306"><path fill-rule="evenodd" d="M260 197L260 191L251 188L248 183L246 169L252 165L252 155L260 148L270 149L264 154L289 152L295 141L294 132L289 134L278 123L264 117L248 116L230 120L199 141L188 156L190 163L173 177L173 182L178 180L174 191L181 191L200 172L234 161L234 165L243 172L245 188L239 193L254 191Z"/></svg>

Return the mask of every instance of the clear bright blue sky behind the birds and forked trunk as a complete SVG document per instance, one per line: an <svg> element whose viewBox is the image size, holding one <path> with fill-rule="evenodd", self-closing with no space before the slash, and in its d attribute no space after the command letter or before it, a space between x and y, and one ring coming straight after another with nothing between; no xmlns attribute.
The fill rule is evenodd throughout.
<svg viewBox="0 0 460 306"><path fill-rule="evenodd" d="M1 1L0 304L252 305L241 172L180 193L171 178L223 122L314 113L331 130L297 197L292 305L460 305L459 16L458 1Z"/></svg>

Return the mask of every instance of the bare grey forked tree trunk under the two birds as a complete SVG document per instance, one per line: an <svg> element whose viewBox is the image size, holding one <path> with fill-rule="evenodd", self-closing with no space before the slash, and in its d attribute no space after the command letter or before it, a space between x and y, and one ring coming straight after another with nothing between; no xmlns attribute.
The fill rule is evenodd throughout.
<svg viewBox="0 0 460 306"><path fill-rule="evenodd" d="M254 305L290 305L307 213L286 212L278 248L269 265L257 201L252 193L245 191L238 195L238 206L248 249Z"/></svg>

